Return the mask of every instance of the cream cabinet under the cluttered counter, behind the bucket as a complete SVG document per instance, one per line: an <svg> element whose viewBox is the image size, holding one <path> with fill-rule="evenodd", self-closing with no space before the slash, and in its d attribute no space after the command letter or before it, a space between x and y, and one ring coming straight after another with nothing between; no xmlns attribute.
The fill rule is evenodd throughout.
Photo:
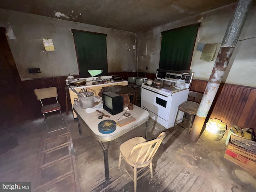
<svg viewBox="0 0 256 192"><path fill-rule="evenodd" d="M112 82L112 83L105 83L105 84L97 84L97 85L88 85L88 86L72 86L73 89L75 89L77 92L79 92L82 88L90 88L92 90L94 90L96 92L96 96L99 95L99 92L101 91L102 87L107 87L110 85L128 85L128 81L126 80L118 80L116 82ZM77 94L75 92L73 92L70 88L68 88L69 90L69 95L70 95L70 101L71 101L71 106L72 106L72 113L74 118L76 118L76 113L73 110L73 104L75 103L74 98L78 98Z"/></svg>

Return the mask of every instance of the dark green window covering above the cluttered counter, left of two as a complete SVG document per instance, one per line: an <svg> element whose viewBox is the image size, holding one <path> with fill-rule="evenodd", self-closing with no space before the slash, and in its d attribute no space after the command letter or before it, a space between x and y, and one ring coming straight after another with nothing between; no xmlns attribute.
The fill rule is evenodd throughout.
<svg viewBox="0 0 256 192"><path fill-rule="evenodd" d="M100 70L98 76L108 75L106 34L72 30L76 46L80 77L91 77L88 70Z"/></svg>

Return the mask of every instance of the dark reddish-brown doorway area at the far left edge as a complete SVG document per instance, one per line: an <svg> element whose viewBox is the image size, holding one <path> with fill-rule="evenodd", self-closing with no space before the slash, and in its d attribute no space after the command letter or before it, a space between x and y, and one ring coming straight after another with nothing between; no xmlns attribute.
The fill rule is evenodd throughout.
<svg viewBox="0 0 256 192"><path fill-rule="evenodd" d="M10 50L6 29L0 27L0 121L2 128L22 122L26 107L20 98L21 80Z"/></svg>

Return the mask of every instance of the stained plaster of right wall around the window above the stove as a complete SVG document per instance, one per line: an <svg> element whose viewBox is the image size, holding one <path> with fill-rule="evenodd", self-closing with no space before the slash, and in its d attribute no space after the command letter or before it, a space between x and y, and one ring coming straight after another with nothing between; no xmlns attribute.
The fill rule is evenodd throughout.
<svg viewBox="0 0 256 192"><path fill-rule="evenodd" d="M200 60L202 52L197 51L198 43L217 43L218 49L224 38L229 21L234 14L236 4L231 4L186 19L177 20L136 34L139 71L156 73L159 67L161 32L201 22L196 38L190 69L195 79L208 80L215 63ZM222 82L244 86L256 86L256 6L250 9L244 28L222 78ZM217 51L218 51L217 49ZM146 70L148 67L148 70Z"/></svg>

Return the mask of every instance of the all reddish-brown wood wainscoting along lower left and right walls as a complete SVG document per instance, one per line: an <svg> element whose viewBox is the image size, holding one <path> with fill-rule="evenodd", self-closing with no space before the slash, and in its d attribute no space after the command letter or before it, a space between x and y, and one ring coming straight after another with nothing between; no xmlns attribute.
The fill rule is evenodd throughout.
<svg viewBox="0 0 256 192"><path fill-rule="evenodd" d="M136 76L137 72L116 72L109 75L119 75L123 79L128 76ZM145 73L138 72L138 76L145 76ZM146 74L150 79L154 79L155 74ZM17 97L22 100L26 108L20 110L22 121L41 118L40 102L36 100L34 89L56 86L58 89L58 100L65 115L65 79L67 77L42 78L21 81L17 88ZM75 76L78 78L78 76ZM207 81L193 80L190 90L204 92ZM15 101L13 101L15 102ZM68 109L71 110L71 103L68 99ZM14 109L16 110L16 109ZM232 84L221 84L212 108L210 118L218 118L226 122L228 126L238 125L242 128L256 128L256 88L237 86ZM3 121L3 120L2 120ZM19 120L20 123L21 120ZM8 122L12 125L13 122Z"/></svg>

